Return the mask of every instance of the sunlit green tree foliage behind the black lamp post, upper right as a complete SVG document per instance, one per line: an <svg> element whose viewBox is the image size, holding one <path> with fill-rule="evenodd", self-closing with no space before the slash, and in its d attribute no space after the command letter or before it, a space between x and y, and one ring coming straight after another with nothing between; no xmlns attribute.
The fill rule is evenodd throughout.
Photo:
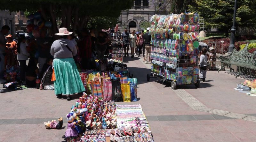
<svg viewBox="0 0 256 142"><path fill-rule="evenodd" d="M189 11L197 11L208 28L217 27L228 37L233 22L234 0L195 0ZM236 26L250 27L256 23L256 0L243 0L237 3Z"/></svg>

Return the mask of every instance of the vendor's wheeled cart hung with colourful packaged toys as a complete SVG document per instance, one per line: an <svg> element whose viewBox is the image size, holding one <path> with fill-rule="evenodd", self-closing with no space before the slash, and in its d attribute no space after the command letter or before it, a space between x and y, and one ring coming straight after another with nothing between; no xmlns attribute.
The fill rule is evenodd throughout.
<svg viewBox="0 0 256 142"><path fill-rule="evenodd" d="M184 15L167 15L165 18L174 19L176 17L176 19L181 19L182 16ZM159 17L161 20L162 16ZM184 17L189 19L191 16L185 15ZM186 26L190 20L182 23L182 25ZM188 84L194 84L199 88L198 34L195 30L180 28L181 24L179 22L175 21L174 23L179 26L176 25L175 28L169 28L168 33L153 31L154 34L151 34L152 52L150 59L152 60L152 66L151 74L147 74L147 80L149 81L151 77L161 78L163 83L164 81L170 82L172 89L176 89L178 85ZM156 31L159 30L156 29Z"/></svg>

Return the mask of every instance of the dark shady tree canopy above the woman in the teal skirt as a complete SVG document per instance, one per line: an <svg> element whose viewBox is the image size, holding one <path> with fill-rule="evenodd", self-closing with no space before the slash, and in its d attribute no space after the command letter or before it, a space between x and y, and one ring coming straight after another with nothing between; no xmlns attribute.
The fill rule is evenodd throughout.
<svg viewBox="0 0 256 142"><path fill-rule="evenodd" d="M132 5L133 0L1 0L0 10L39 11L44 21L52 22L52 30L56 33L56 19L61 19L61 27L75 32L86 27L90 18L117 18L122 10Z"/></svg>

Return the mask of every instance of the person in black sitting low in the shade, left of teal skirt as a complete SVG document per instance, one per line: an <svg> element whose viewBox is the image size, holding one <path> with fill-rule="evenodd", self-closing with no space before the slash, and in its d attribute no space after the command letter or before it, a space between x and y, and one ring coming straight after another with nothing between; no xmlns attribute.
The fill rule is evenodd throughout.
<svg viewBox="0 0 256 142"><path fill-rule="evenodd" d="M26 84L29 87L36 86L36 77L39 74L39 70L37 68L37 62L34 57L30 57L28 61L28 67L26 70Z"/></svg>

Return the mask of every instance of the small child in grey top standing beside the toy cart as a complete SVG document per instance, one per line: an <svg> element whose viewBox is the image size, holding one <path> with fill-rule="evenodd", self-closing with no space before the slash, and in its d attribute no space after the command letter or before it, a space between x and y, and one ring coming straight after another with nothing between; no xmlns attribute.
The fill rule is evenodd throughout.
<svg viewBox="0 0 256 142"><path fill-rule="evenodd" d="M199 61L199 67L200 67L200 72L199 72L199 77L203 82L205 81L206 78L206 71L207 71L207 48L203 48L201 51L201 56L200 56L200 61Z"/></svg>

